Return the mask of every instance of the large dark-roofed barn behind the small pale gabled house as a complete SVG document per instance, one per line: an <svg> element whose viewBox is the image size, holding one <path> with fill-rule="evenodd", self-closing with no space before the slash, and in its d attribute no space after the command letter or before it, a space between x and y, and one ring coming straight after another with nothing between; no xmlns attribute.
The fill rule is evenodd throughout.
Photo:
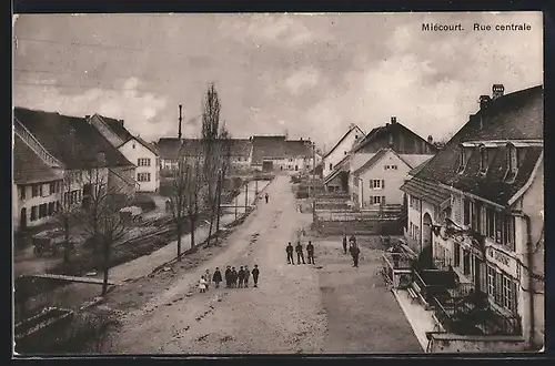
<svg viewBox="0 0 555 366"><path fill-rule="evenodd" d="M373 129L363 139L360 139L351 151L344 153L344 156L334 165L331 173L324 176L326 190L329 192L351 193L350 182L354 182L351 173L363 166L383 149L394 151L411 169L428 160L437 152L430 139L422 139L392 116L391 123Z"/></svg>

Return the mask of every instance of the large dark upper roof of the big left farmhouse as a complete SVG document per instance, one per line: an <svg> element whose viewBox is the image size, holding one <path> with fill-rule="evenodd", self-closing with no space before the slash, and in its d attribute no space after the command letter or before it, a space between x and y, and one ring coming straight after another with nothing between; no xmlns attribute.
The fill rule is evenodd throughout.
<svg viewBox="0 0 555 366"><path fill-rule="evenodd" d="M133 165L84 118L23 108L16 108L13 114L68 169Z"/></svg>

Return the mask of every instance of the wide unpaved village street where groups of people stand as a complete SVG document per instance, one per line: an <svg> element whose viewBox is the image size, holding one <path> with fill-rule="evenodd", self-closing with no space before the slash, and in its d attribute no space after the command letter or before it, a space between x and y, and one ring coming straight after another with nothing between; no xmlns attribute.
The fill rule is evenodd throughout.
<svg viewBox="0 0 555 366"><path fill-rule="evenodd" d="M120 318L107 353L420 353L411 326L377 275L380 252L361 241L353 268L339 238L315 241L316 265L287 265L285 245L307 228L287 176L266 187L270 203L229 237L225 250L182 274L143 306ZM303 245L306 245L306 237ZM259 288L210 288L199 293L201 274L219 266L260 267ZM155 286L155 284L153 284ZM110 302L108 302L110 304Z"/></svg>

